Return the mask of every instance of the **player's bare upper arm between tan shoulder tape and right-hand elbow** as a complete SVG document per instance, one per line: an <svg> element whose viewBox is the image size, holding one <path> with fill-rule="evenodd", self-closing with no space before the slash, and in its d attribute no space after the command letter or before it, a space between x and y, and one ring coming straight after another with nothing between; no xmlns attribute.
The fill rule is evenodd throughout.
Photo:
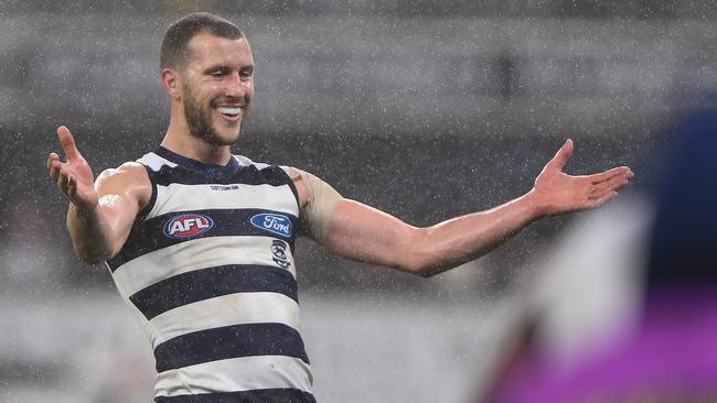
<svg viewBox="0 0 717 403"><path fill-rule="evenodd" d="M389 214L342 199L320 243L351 260L410 271L409 251L419 233L418 228Z"/></svg>

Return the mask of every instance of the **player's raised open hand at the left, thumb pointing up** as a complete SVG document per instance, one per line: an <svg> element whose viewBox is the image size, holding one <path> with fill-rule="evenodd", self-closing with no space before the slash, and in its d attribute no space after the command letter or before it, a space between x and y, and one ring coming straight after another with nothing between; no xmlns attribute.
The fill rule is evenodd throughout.
<svg viewBox="0 0 717 403"><path fill-rule="evenodd" d="M75 146L75 140L66 127L57 128L57 138L67 162L62 162L56 153L50 153L47 156L50 177L75 207L81 211L89 211L97 206L98 200L92 167Z"/></svg>

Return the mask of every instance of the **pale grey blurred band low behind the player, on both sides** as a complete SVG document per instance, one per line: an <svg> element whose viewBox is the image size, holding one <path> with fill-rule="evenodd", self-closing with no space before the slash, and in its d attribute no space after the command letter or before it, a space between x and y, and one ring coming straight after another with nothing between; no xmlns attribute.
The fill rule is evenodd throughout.
<svg viewBox="0 0 717 403"><path fill-rule="evenodd" d="M504 331L500 313L464 302L400 297L301 299L302 335L320 402L462 402ZM90 293L43 306L3 301L0 400L139 403L153 358L120 298ZM450 312L450 314L446 314Z"/></svg>

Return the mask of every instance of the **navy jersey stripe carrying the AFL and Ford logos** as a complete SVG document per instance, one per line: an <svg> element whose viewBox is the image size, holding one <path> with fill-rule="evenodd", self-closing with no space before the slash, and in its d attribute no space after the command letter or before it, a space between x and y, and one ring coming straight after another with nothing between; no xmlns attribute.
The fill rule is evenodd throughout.
<svg viewBox="0 0 717 403"><path fill-rule="evenodd" d="M113 259L107 261L111 272L117 268L137 259L142 254L153 252L156 250L168 248L183 241L208 238L208 237L232 237L232 236L263 236L280 238L289 243L293 250L293 233L296 233L297 217L287 213L279 213L274 210L264 209L208 209L208 210L194 210L192 214L203 215L212 219L212 228L189 238L171 238L164 233L164 226L175 217L182 216L190 211L174 211L163 214L148 219L147 221L137 221L132 228L127 242L122 250ZM291 220L292 233L290 237L278 236L268 232L265 229L257 228L252 225L252 217L258 214L276 214L279 216L288 217Z"/></svg>

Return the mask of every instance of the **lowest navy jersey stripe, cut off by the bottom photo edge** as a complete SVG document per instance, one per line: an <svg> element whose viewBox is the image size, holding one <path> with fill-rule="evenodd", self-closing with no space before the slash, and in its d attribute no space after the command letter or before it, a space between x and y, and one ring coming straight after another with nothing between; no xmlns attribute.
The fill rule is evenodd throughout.
<svg viewBox="0 0 717 403"><path fill-rule="evenodd" d="M158 396L156 403L317 403L311 393L298 389L256 389L253 391Z"/></svg>

